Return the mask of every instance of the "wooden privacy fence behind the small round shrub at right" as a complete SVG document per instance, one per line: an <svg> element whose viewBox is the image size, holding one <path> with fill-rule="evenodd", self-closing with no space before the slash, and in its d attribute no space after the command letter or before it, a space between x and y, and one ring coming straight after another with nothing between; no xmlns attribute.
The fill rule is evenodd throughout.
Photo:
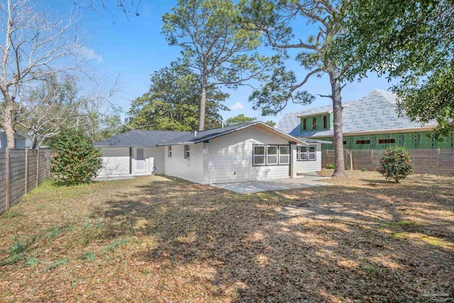
<svg viewBox="0 0 454 303"><path fill-rule="evenodd" d="M409 150L416 174L454 175L454 150ZM375 170L384 150L344 150L345 167ZM350 156L351 154L351 156ZM351 161L350 161L351 159ZM334 164L334 150L321 152L321 165Z"/></svg>

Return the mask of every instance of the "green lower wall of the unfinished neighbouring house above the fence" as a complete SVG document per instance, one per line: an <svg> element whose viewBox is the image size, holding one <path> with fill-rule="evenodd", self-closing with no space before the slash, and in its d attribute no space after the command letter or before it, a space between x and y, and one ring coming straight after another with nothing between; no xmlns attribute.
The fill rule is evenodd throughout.
<svg viewBox="0 0 454 303"><path fill-rule="evenodd" d="M323 141L333 141L333 137L323 137L317 139ZM378 143L382 139L394 139L396 143ZM356 144L356 141L369 140L369 144ZM431 131L419 131L411 133L377 133L372 135L360 136L343 136L345 144L343 147L348 150L367 150L367 149L384 149L392 146L404 146L408 149L453 149L454 132L443 138L442 141L436 141ZM332 150L332 144L322 144L322 150Z"/></svg>

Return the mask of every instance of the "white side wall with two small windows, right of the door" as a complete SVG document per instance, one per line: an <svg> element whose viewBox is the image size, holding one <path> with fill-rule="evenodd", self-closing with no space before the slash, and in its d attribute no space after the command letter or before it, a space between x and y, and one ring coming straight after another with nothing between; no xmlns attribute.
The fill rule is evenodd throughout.
<svg viewBox="0 0 454 303"><path fill-rule="evenodd" d="M190 158L184 159L184 145L172 145L172 158L167 157L165 146L164 173L197 183L204 183L204 143L190 146Z"/></svg>

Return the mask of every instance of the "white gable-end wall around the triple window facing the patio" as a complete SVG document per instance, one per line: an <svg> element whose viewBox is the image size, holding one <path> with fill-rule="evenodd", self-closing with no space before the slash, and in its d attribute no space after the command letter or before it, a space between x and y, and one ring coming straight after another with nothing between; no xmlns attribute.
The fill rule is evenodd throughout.
<svg viewBox="0 0 454 303"><path fill-rule="evenodd" d="M209 182L238 182L289 177L289 165L253 166L253 145L289 145L289 141L251 126L209 141Z"/></svg>

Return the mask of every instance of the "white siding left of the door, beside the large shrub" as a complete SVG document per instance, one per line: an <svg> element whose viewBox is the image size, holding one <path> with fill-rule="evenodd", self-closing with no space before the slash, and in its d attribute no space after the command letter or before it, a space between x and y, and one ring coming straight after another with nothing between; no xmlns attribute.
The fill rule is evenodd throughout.
<svg viewBox="0 0 454 303"><path fill-rule="evenodd" d="M100 148L103 168L99 175L128 175L129 148Z"/></svg>

